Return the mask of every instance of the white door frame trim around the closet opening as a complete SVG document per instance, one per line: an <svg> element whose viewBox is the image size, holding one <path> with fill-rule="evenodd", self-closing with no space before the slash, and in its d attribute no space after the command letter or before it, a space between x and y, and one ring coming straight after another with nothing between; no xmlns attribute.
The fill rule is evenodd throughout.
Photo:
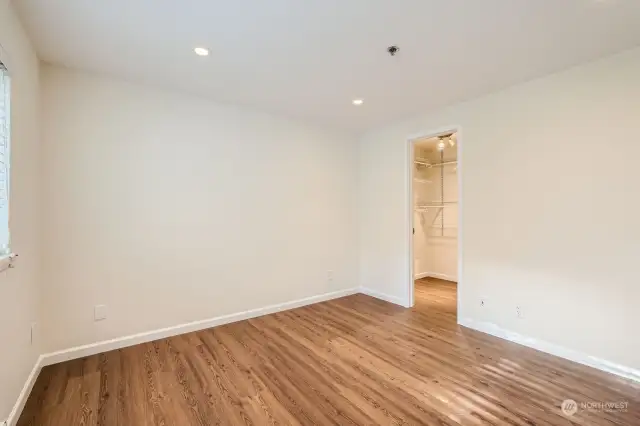
<svg viewBox="0 0 640 426"><path fill-rule="evenodd" d="M448 126L440 129L436 129L429 132L419 133L416 135L409 136L407 138L407 153L406 153L406 192L405 192L405 206L406 206L406 247L407 247L407 291L406 298L404 300L404 305L406 307L412 307L415 304L414 298L414 270L413 270L413 155L414 155L414 147L415 142L422 139L433 138L441 135L445 135L448 133L455 133L458 143L456 144L457 154L458 154L458 296L457 296L457 304L458 304L458 312L460 312L460 300L462 299L462 291L464 289L463 286L463 277L462 277L462 228L464 221L462 220L462 212L464 209L462 208L462 147L464 146L462 142L462 128L461 126Z"/></svg>

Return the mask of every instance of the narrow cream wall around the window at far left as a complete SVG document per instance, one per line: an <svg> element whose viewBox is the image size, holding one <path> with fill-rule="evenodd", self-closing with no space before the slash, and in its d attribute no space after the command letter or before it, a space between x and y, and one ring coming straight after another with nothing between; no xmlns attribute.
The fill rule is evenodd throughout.
<svg viewBox="0 0 640 426"><path fill-rule="evenodd" d="M0 273L0 420L9 415L40 353L38 320L40 144L38 60L12 6L0 1L0 60L11 73L11 201L15 269ZM38 336L36 336L38 337Z"/></svg>

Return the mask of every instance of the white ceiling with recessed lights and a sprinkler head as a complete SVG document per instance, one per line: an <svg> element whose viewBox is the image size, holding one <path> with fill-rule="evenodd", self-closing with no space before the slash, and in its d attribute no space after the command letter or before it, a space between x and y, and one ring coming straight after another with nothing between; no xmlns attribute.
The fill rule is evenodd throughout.
<svg viewBox="0 0 640 426"><path fill-rule="evenodd" d="M45 61L354 131L640 44L637 0L14 3Z"/></svg>

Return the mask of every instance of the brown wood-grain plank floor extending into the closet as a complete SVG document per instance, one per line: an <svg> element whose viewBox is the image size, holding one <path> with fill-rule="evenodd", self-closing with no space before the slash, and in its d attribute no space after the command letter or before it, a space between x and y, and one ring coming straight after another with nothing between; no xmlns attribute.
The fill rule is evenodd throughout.
<svg viewBox="0 0 640 426"><path fill-rule="evenodd" d="M49 366L18 424L640 425L638 384L459 327L455 292L425 279L411 310L354 295Z"/></svg>

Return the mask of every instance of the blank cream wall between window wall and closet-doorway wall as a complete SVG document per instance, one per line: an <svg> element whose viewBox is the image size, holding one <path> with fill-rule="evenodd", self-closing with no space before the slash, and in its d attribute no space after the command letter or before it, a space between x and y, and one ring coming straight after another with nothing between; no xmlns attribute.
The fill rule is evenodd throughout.
<svg viewBox="0 0 640 426"><path fill-rule="evenodd" d="M355 140L42 73L48 351L357 287Z"/></svg>

